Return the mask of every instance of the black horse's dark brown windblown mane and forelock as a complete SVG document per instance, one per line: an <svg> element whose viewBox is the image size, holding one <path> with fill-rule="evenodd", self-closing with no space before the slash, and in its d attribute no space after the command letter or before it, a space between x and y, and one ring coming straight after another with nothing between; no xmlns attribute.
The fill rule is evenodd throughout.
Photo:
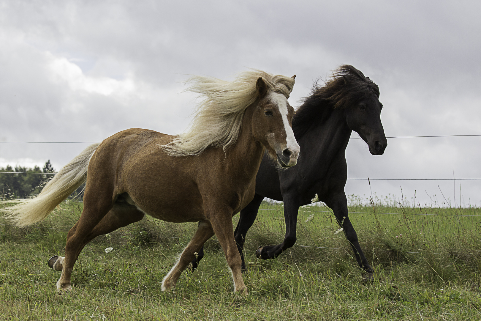
<svg viewBox="0 0 481 321"><path fill-rule="evenodd" d="M347 108L371 94L379 98L378 85L352 65L340 66L334 70L332 77L323 81L323 86L316 81L311 95L304 98L303 104L296 110L292 120L296 138L309 131L312 124L322 117L323 111Z"/></svg>

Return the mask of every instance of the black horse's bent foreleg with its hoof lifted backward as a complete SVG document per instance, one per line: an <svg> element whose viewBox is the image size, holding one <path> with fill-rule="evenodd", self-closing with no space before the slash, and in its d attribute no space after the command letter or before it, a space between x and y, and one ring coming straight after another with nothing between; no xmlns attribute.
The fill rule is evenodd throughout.
<svg viewBox="0 0 481 321"><path fill-rule="evenodd" d="M276 258L286 249L294 246L296 243L296 224L299 205L297 202L284 199L284 219L286 221L286 236L281 244L273 246L259 247L255 251L257 258L268 259Z"/></svg>

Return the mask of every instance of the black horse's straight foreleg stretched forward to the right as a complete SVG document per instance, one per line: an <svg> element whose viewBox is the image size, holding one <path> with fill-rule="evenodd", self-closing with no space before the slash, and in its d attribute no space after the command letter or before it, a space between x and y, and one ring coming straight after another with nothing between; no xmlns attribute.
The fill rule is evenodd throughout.
<svg viewBox="0 0 481 321"><path fill-rule="evenodd" d="M351 220L347 215L347 199L345 193L339 193L333 195L329 202L326 204L332 208L334 212L334 216L337 219L338 224L342 227L344 234L346 235L347 240L351 244L354 256L357 260L357 264L361 269L365 270L367 275L367 279L374 279L374 270L367 262L367 258L364 256L364 253L361 249L361 245L357 240L357 233L354 230L353 224L351 224Z"/></svg>

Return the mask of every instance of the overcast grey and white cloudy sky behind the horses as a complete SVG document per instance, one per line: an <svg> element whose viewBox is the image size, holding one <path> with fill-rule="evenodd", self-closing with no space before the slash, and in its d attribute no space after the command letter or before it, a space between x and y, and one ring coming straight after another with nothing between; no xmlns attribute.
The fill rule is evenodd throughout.
<svg viewBox="0 0 481 321"><path fill-rule="evenodd" d="M296 74L296 107L316 79L352 64L380 87L386 136L479 135L480 14L480 1L0 1L0 167L59 169L88 145L10 141L180 133L195 98L182 93L186 75L248 67ZM352 139L348 177L481 178L480 146L480 136L391 138L373 156ZM421 205L441 192L481 205L481 180L345 190L400 198L401 186Z"/></svg>

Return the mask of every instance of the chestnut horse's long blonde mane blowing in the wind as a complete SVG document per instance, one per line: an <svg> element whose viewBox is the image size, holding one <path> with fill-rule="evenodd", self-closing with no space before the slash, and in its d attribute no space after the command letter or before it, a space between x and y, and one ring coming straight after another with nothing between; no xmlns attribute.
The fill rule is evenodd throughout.
<svg viewBox="0 0 481 321"><path fill-rule="evenodd" d="M172 156L201 154L210 146L222 146L226 150L237 141L244 110L259 96L256 89L259 77L266 83L267 90L289 98L294 78L261 70L240 72L232 82L206 76L190 77L186 82L190 83L187 90L201 94L204 99L196 108L190 129L161 147Z"/></svg>

